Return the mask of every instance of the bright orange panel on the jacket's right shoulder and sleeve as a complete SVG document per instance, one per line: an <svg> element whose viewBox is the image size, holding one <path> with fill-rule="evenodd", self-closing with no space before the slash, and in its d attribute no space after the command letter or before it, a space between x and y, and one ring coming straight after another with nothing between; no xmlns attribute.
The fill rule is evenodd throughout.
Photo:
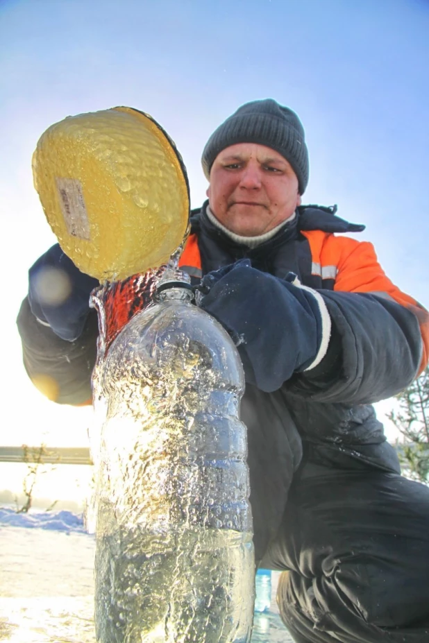
<svg viewBox="0 0 429 643"><path fill-rule="evenodd" d="M412 311L419 320L423 353L419 367L422 372L429 359L429 313L414 298L403 293L385 274L378 263L376 251L368 241L350 237L335 237L329 232L311 230L302 232L308 239L312 262L323 266L336 266L334 290L347 293L385 293L394 301Z"/></svg>

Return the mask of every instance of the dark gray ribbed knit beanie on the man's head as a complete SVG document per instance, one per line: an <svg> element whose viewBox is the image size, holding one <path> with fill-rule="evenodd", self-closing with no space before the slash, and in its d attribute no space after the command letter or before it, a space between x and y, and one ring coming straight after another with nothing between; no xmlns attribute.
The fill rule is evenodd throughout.
<svg viewBox="0 0 429 643"><path fill-rule="evenodd" d="M303 194L308 184L308 150L304 128L295 112L273 98L252 101L238 108L214 130L205 145L201 162L206 178L219 152L235 143L258 143L276 150L291 164Z"/></svg>

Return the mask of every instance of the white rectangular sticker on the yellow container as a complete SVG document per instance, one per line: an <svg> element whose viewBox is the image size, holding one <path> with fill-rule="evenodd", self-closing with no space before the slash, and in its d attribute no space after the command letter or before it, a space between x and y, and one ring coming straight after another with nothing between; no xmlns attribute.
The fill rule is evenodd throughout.
<svg viewBox="0 0 429 643"><path fill-rule="evenodd" d="M82 185L77 179L56 177L62 216L72 237L90 239L90 222L83 200Z"/></svg>

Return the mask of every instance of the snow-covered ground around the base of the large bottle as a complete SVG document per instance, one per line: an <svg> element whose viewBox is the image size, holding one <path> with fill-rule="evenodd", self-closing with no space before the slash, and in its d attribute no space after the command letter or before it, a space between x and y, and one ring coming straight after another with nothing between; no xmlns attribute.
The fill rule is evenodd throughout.
<svg viewBox="0 0 429 643"><path fill-rule="evenodd" d="M94 536L70 511L0 508L0 641L95 643ZM275 602L255 615L252 643L289 643Z"/></svg>

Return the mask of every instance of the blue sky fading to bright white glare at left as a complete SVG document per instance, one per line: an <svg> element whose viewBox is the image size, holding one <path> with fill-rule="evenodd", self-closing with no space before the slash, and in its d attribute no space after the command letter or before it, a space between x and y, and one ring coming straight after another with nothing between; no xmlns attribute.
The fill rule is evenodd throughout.
<svg viewBox="0 0 429 643"><path fill-rule="evenodd" d="M242 103L276 98L305 127L304 203L366 223L360 238L428 306L428 33L426 0L0 0L1 390L17 424L29 409L40 427L70 421L79 436L87 422L39 400L15 331L28 266L55 241L31 155L69 114L152 114L183 155L196 207L211 132Z"/></svg>

